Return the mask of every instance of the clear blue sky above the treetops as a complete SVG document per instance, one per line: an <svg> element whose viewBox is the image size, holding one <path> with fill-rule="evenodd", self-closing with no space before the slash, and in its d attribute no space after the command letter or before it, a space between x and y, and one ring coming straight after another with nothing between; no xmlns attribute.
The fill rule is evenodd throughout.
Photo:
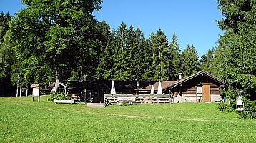
<svg viewBox="0 0 256 143"><path fill-rule="evenodd" d="M0 11L13 16L21 6L20 0L0 0ZM222 15L215 0L103 0L101 6L94 16L112 28L117 29L122 21L128 27L133 24L147 39L161 28L169 41L175 33L182 49L194 44L198 56L217 46L219 34L223 34L216 23Z"/></svg>

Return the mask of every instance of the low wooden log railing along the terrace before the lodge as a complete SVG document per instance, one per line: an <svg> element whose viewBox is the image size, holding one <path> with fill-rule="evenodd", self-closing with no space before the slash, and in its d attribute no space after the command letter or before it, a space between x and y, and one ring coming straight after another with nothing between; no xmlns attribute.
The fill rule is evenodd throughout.
<svg viewBox="0 0 256 143"><path fill-rule="evenodd" d="M109 104L171 104L169 94L104 94L104 100Z"/></svg>

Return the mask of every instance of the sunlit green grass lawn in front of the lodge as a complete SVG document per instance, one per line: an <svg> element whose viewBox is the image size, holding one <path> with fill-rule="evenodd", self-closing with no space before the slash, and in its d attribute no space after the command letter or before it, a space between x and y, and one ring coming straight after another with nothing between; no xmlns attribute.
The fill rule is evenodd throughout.
<svg viewBox="0 0 256 143"><path fill-rule="evenodd" d="M0 97L0 142L256 142L256 120L217 104L109 106Z"/></svg>

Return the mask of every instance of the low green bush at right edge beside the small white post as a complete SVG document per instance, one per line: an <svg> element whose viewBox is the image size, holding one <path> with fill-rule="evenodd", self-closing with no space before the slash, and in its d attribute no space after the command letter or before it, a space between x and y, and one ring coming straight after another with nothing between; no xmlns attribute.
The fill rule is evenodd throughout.
<svg viewBox="0 0 256 143"><path fill-rule="evenodd" d="M250 99L243 97L242 102L244 103L245 109L237 112L240 118L256 119L256 101L250 101Z"/></svg>

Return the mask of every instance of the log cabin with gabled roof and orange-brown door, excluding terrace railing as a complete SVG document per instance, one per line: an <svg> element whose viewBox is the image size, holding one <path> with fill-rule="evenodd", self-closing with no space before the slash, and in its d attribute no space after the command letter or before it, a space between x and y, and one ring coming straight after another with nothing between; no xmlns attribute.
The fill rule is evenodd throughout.
<svg viewBox="0 0 256 143"><path fill-rule="evenodd" d="M154 91L157 91L158 83L154 82ZM162 81L162 92L172 94L174 103L179 102L219 102L222 99L221 89L227 87L225 82L207 73L199 71L178 81ZM137 94L149 94L151 85L135 89Z"/></svg>

